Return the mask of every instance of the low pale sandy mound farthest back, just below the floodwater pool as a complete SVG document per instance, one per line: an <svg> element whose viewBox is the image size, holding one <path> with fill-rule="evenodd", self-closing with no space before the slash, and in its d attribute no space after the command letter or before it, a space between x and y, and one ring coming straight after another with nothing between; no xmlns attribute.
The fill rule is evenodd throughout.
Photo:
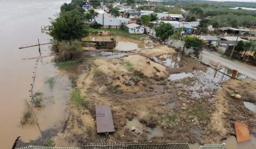
<svg viewBox="0 0 256 149"><path fill-rule="evenodd" d="M176 53L173 48L167 46L160 46L152 49L141 49L137 52L148 57L164 55L166 53Z"/></svg>

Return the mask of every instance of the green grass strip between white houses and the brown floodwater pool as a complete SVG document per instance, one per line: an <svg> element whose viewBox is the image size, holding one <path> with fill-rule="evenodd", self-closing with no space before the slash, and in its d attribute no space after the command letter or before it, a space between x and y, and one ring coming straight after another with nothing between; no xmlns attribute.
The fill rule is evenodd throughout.
<svg viewBox="0 0 256 149"><path fill-rule="evenodd" d="M140 39L142 37L146 37L147 35L146 34L130 34L128 32L128 30L123 30L123 29L88 29L89 32L91 33L94 33L94 34L97 34L99 31L112 31L112 34L113 35L116 35L116 36L126 36L126 37L129 37L129 38L132 38L132 39Z"/></svg>

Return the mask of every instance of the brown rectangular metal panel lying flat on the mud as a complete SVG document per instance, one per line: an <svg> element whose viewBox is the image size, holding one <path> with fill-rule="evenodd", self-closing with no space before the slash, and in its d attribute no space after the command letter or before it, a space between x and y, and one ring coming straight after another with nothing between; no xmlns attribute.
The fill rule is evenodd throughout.
<svg viewBox="0 0 256 149"><path fill-rule="evenodd" d="M110 106L95 106L97 133L115 132Z"/></svg>

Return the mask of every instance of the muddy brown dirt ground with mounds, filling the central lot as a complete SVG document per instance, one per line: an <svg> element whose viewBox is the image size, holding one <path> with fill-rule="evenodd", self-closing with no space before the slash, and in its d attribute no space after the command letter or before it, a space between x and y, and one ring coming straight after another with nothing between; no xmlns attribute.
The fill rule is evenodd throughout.
<svg viewBox="0 0 256 149"><path fill-rule="evenodd" d="M83 55L73 89L80 91L86 104L75 106L69 101L64 128L52 138L55 146L75 147L93 141L97 136L95 106L100 105L111 106L115 126L106 142L220 143L235 135L234 121L246 124L250 134L256 135L256 115L243 103L256 102L255 82L201 80L200 75L209 73L207 66L166 45L152 43L153 48L110 59L95 56L95 52ZM175 68L154 57L173 59ZM193 76L168 79L177 73ZM232 94L240 94L241 99ZM133 125L140 128L139 135L130 130Z"/></svg>

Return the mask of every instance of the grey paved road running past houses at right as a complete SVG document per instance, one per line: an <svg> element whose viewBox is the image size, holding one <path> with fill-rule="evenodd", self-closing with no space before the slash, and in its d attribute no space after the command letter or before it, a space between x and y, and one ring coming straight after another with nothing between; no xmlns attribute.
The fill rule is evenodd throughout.
<svg viewBox="0 0 256 149"><path fill-rule="evenodd" d="M247 75L252 79L256 79L256 68L254 68L253 66L246 65L238 61L231 61L229 59L205 50L200 55L204 59L209 59L210 61L216 63L220 61L221 65L225 65L231 69L238 70L238 72Z"/></svg>

